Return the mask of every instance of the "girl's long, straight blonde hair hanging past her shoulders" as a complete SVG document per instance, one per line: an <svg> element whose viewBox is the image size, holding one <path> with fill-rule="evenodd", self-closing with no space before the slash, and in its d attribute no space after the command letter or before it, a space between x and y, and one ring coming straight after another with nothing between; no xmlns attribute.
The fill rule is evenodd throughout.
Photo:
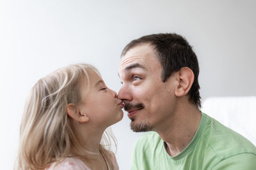
<svg viewBox="0 0 256 170"><path fill-rule="evenodd" d="M17 169L45 169L52 162L61 162L68 157L71 150L76 150L76 157L90 159L67 114L67 104L80 101L78 84L81 78L84 78L88 92L88 71L99 74L89 64L73 64L48 74L34 85L20 125ZM100 152L112 169L108 152L111 141L116 145L108 128L100 141Z"/></svg>

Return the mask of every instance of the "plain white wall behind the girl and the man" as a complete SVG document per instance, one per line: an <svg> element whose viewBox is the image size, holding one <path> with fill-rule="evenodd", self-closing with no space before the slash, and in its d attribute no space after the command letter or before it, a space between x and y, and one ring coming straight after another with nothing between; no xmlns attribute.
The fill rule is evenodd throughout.
<svg viewBox="0 0 256 170"><path fill-rule="evenodd" d="M75 62L97 66L116 91L122 48L134 38L177 32L194 46L202 99L256 96L255 1L0 1L0 164L12 169L24 100L45 74ZM129 119L113 125L120 169L129 169ZM255 129L254 129L255 130Z"/></svg>

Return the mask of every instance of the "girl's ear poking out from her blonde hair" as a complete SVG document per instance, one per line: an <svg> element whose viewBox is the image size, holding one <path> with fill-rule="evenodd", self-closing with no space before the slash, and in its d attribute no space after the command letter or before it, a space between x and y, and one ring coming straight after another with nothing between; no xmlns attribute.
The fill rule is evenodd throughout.
<svg viewBox="0 0 256 170"><path fill-rule="evenodd" d="M71 118L73 118L77 122L84 123L89 121L87 115L85 113L81 113L80 110L77 110L76 105L73 103L68 103L67 113Z"/></svg>

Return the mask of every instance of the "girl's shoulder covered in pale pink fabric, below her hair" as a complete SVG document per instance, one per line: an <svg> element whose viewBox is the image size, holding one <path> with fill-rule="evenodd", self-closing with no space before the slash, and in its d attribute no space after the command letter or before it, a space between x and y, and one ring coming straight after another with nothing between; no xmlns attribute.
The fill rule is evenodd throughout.
<svg viewBox="0 0 256 170"><path fill-rule="evenodd" d="M84 169L84 170L90 170L89 167L84 164L79 158L77 157L67 157L64 159L60 164L56 164L54 162L51 164L51 166L47 167L45 170L79 170L79 169Z"/></svg>

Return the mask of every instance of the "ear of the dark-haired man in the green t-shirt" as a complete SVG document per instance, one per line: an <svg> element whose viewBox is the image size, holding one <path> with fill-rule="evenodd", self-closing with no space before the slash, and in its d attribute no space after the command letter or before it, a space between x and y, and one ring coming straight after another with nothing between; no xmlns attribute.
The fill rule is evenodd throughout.
<svg viewBox="0 0 256 170"><path fill-rule="evenodd" d="M188 94L194 82L194 73L189 67L182 67L177 73L178 85L175 89L177 97L185 96Z"/></svg>

